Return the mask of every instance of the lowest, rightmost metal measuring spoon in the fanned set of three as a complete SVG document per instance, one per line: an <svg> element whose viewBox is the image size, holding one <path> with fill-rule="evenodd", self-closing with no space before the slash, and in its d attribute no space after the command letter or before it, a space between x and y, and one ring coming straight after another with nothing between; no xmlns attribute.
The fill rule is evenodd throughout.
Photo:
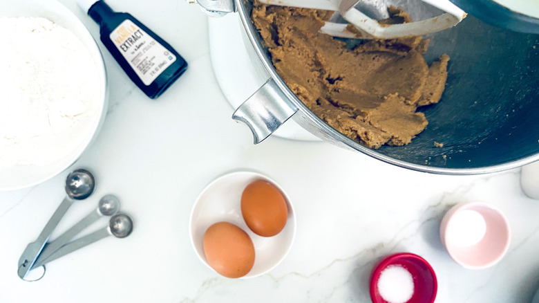
<svg viewBox="0 0 539 303"><path fill-rule="evenodd" d="M53 252L50 257L45 260L44 264L47 264L50 261L54 261L59 257L67 255L70 252L73 252L79 248L83 248L89 244L92 244L95 241L106 238L108 236L114 236L117 238L125 238L131 234L133 231L133 220L127 214L115 214L110 221L108 221L108 226L100 230L96 230L89 235L80 237L74 241L69 242L68 244L62 246L55 252ZM39 265L44 265L39 264Z"/></svg>

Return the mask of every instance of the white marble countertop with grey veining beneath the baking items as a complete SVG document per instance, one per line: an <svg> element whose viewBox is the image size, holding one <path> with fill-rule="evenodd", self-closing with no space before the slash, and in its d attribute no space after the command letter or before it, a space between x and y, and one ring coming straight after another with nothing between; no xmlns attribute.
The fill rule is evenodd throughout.
<svg viewBox="0 0 539 303"><path fill-rule="evenodd" d="M167 40L189 68L150 100L102 48L108 115L95 143L73 165L90 169L98 187L87 202L73 205L55 235L108 193L122 199L135 229L125 239L108 237L51 262L39 282L23 282L17 261L63 199L67 172L35 187L0 192L0 302L370 302L370 270L391 252L413 252L433 266L436 302L531 300L539 283L539 201L520 190L520 169L439 176L328 143L271 137L253 145L249 129L230 118L233 109L212 72L207 18L198 6L181 0L107 2ZM75 1L62 3L97 39L97 25ZM273 178L296 211L290 253L253 279L214 273L189 241L189 214L202 188L238 169ZM451 205L474 200L498 205L513 231L507 255L485 270L457 265L438 235Z"/></svg>

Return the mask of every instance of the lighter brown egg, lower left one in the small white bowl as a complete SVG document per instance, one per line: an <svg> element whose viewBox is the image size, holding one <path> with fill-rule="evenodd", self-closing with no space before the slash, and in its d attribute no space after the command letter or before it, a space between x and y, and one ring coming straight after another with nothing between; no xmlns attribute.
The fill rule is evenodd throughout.
<svg viewBox="0 0 539 303"><path fill-rule="evenodd" d="M247 232L232 223L210 226L202 240L209 266L220 275L243 277L254 264L254 245Z"/></svg>

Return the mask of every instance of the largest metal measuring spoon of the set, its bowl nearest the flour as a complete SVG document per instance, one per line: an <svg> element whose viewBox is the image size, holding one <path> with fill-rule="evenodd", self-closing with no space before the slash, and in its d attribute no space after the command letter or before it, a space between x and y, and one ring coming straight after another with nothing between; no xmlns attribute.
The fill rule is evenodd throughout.
<svg viewBox="0 0 539 303"><path fill-rule="evenodd" d="M58 222L64 217L68 208L73 204L75 200L83 200L88 198L95 189L95 179L93 175L88 172L86 169L76 169L73 172L70 172L66 178L66 193L67 196L64 198L64 201L60 203L57 210L53 214L53 217L50 217L46 226L43 228L39 237L32 243L26 246L26 249L23 251L21 258L19 259L19 268L17 269L17 275L24 279L32 266L35 264L39 252L43 249L47 243L50 233L58 225Z"/></svg>

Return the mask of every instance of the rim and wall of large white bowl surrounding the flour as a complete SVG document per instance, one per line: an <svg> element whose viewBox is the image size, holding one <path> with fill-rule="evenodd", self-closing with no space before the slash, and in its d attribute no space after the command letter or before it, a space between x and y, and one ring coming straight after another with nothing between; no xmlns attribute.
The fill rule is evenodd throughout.
<svg viewBox="0 0 539 303"><path fill-rule="evenodd" d="M92 35L82 22L56 0L2 0L0 1L1 17L44 17L75 33L81 42L88 48L91 57L98 68L100 81L100 104L97 104L97 116L93 120L89 131L81 134L82 140L67 156L48 165L12 165L0 167L0 190L17 190L23 187L36 185L48 178L63 172L81 156L86 147L95 138L99 131L108 104L108 87L106 71L100 49L97 47ZM1 109L0 109L1 110ZM1 152L1 151L0 151Z"/></svg>

